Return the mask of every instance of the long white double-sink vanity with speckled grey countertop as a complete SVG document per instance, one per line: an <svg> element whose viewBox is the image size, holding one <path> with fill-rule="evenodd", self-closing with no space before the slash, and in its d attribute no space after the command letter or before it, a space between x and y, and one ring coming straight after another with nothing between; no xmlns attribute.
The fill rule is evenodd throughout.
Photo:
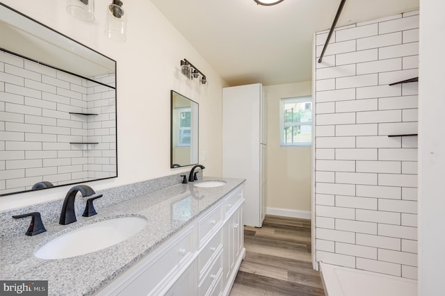
<svg viewBox="0 0 445 296"><path fill-rule="evenodd" d="M1 279L47 280L49 295L228 295L245 254L243 182L127 188L138 196L3 239Z"/></svg>

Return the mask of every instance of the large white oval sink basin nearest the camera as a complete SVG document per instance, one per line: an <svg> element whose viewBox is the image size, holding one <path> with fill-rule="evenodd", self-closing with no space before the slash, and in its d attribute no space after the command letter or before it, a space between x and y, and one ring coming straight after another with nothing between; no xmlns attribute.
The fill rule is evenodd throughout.
<svg viewBox="0 0 445 296"><path fill-rule="evenodd" d="M88 254L127 240L141 231L143 217L119 217L74 229L42 245L34 252L41 259L61 259Z"/></svg>

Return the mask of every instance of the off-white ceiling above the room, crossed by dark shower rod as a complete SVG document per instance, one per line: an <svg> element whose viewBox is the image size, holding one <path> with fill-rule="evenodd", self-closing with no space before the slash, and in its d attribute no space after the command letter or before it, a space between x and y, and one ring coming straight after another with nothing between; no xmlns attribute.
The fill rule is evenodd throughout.
<svg viewBox="0 0 445 296"><path fill-rule="evenodd" d="M311 80L312 38L330 28L340 2L152 0L229 85ZM418 9L419 0L346 0L337 27Z"/></svg>

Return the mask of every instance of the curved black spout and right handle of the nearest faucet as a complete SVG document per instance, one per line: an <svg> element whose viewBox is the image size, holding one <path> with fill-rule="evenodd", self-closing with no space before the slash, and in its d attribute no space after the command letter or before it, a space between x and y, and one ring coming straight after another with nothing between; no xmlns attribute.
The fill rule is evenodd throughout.
<svg viewBox="0 0 445 296"><path fill-rule="evenodd" d="M65 200L63 200L62 212L60 213L59 224L66 225L72 222L76 222L76 212L74 211L74 199L76 198L77 192L81 192L82 197L88 197L90 195L95 195L95 190L92 190L90 186L79 185L74 186L68 190ZM86 211L83 212L84 217L89 217L90 215L95 215L96 211L94 206L92 206L92 200L102 197L102 195L97 195L97 197L92 197L87 200Z"/></svg>

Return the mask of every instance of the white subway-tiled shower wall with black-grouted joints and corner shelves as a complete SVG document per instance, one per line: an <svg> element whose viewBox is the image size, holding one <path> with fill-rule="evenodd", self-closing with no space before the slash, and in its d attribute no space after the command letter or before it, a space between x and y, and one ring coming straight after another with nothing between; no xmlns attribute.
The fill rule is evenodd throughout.
<svg viewBox="0 0 445 296"><path fill-rule="evenodd" d="M416 279L417 137L388 135L417 133L417 83L389 83L418 63L419 12L337 28L316 63L316 261Z"/></svg>

